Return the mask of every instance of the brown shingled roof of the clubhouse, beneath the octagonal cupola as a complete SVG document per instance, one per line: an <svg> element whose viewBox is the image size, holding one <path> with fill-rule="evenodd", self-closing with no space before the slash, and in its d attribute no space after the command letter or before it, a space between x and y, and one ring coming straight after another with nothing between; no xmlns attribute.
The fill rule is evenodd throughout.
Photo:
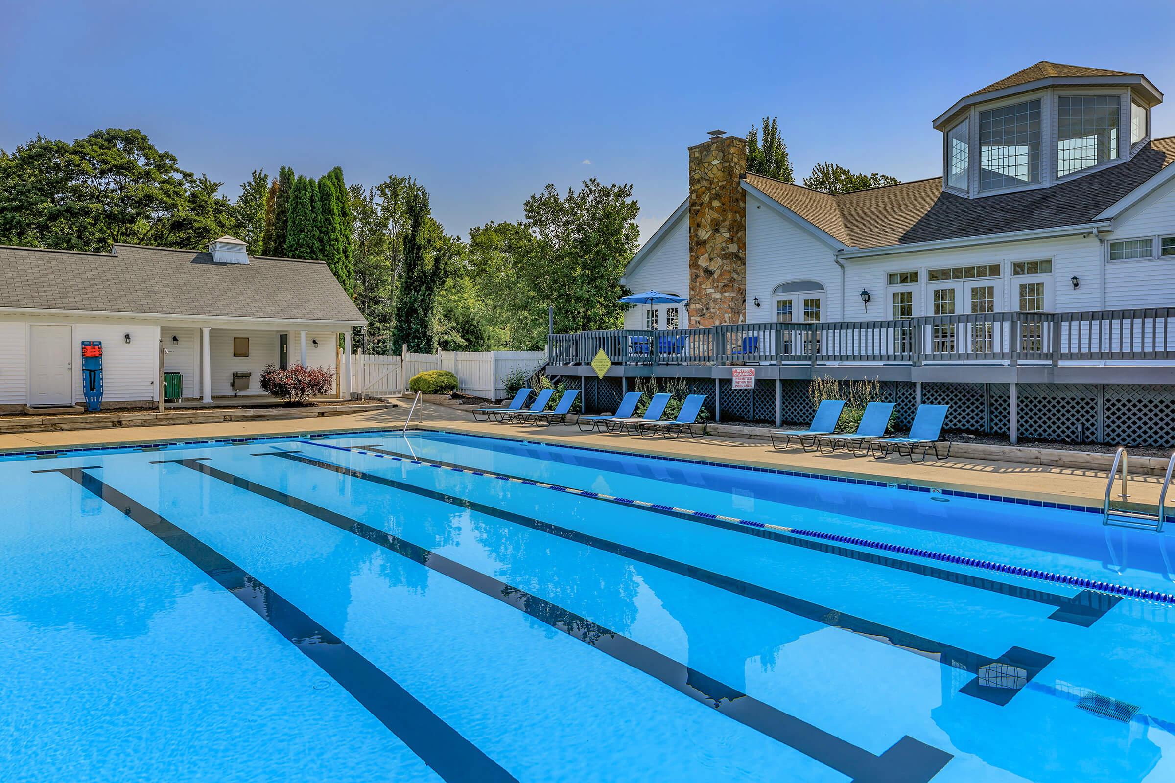
<svg viewBox="0 0 1175 783"><path fill-rule="evenodd" d="M1175 136L1134 157L1052 188L965 198L942 191L942 177L854 193L817 193L758 174L746 182L850 248L1080 225L1175 162Z"/></svg>

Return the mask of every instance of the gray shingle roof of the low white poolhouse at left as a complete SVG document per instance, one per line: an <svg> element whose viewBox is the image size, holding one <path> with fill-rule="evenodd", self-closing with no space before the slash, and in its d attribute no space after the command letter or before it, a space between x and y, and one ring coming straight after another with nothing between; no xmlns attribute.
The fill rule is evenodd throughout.
<svg viewBox="0 0 1175 783"><path fill-rule="evenodd" d="M116 244L112 254L0 247L0 308L365 323L321 261Z"/></svg>

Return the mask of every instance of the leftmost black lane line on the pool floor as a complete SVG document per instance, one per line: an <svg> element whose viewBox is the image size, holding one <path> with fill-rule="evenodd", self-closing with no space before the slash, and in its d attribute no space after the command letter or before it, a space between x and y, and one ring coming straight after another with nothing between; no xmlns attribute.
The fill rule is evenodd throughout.
<svg viewBox="0 0 1175 783"><path fill-rule="evenodd" d="M412 697L400 683L273 588L175 522L86 473L87 470L90 468L63 467L53 472L73 479L82 488L118 508L212 576L345 688L442 778L452 783L518 783L517 778Z"/></svg>

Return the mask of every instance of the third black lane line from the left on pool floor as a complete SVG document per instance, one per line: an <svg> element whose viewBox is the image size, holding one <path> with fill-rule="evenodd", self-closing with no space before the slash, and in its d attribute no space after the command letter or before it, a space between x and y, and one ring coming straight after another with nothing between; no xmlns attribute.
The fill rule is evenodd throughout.
<svg viewBox="0 0 1175 783"><path fill-rule="evenodd" d="M407 481L389 479L374 473L364 473L363 471L355 468L342 467L331 463L302 457L300 452L264 452L256 455L281 457L303 465L321 467L343 475L350 475L372 484L380 484L392 490L401 490L429 498L431 500L439 500L441 502L446 502L452 506L459 506L479 514L494 517L515 525L529 527L540 533L548 533L569 541L575 541L576 544L590 546L602 552L616 554L622 558L627 558L630 560L636 560L637 562L643 562L674 574L679 574L682 576L687 576L699 582L726 590L727 593L741 595L753 601L759 601L761 603L780 608L790 614L806 617L832 628L840 628L854 634L860 634L861 636L866 636L873 641L891 644L898 649L938 661L942 666L971 671L976 675L975 679L969 681L964 688L960 688L959 693L965 693L969 696L989 701L993 704L1006 704L1012 696L1022 690L1023 687L1033 677L1035 677L1049 661L1053 660L1049 655L1027 650L1021 647L1013 647L1000 657L992 659L986 655L980 655L979 653L946 644L934 639L927 639L926 636L919 636L918 634L912 634L899 628L873 622L872 620L866 620L865 617L858 617L855 615L840 612L833 607L822 606L813 601L806 601L794 595L788 595L787 593L780 593L734 576L727 576L726 574L719 574L698 566L679 562L664 555L637 549L636 547L609 541L579 531L559 527L558 525L552 525L551 522L545 522L540 519L535 519L533 517L524 517L523 514L516 514L511 511L504 511L502 508L488 506L465 498L458 498L444 492L418 487ZM1003 674L1009 676L994 679L989 676L994 669L1000 669Z"/></svg>

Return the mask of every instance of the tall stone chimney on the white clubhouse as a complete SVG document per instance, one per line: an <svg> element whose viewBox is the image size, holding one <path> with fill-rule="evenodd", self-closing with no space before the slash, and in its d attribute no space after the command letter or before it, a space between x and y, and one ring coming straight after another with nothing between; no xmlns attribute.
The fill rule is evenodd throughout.
<svg viewBox="0 0 1175 783"><path fill-rule="evenodd" d="M690 148L690 326L746 317L746 141L723 134Z"/></svg>

